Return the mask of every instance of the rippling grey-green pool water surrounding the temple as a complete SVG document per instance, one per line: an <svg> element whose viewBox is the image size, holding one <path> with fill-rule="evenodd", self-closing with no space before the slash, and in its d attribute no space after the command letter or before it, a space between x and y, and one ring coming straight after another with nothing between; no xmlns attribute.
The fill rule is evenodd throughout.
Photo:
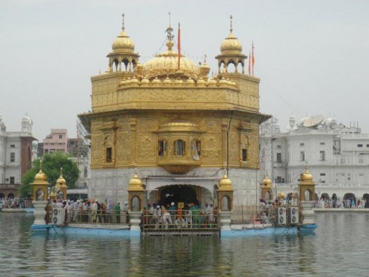
<svg viewBox="0 0 369 277"><path fill-rule="evenodd" d="M33 235L0 213L0 276L368 276L369 213L316 215L315 235L138 239Z"/></svg>

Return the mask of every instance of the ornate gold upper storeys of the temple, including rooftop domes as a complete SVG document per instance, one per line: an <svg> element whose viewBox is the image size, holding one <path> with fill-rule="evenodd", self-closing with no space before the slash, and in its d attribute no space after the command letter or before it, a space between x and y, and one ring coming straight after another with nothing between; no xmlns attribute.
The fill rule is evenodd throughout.
<svg viewBox="0 0 369 277"><path fill-rule="evenodd" d="M168 50L140 64L123 24L108 70L91 77L92 111L79 115L91 133L91 170L258 169L259 125L269 116L259 112L260 79L244 74L247 57L232 28L216 57L224 70L213 78L206 61L196 66L181 55L178 64L167 32Z"/></svg>

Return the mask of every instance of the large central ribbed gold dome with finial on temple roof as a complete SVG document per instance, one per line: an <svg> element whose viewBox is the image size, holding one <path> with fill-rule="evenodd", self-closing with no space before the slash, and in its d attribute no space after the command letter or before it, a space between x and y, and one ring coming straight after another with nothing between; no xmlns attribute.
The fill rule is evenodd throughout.
<svg viewBox="0 0 369 277"><path fill-rule="evenodd" d="M174 46L172 35L172 28L167 28L166 32L168 33L168 41L166 46L168 50L164 53L155 55L152 59L148 60L143 64L143 68L145 69L145 73L148 77L165 75L165 74L174 74L180 71L185 75L189 75L192 78L197 78L200 74L199 66L192 62L192 60L186 58L181 54L180 57L180 65L178 66L178 53L173 51L172 48Z"/></svg>

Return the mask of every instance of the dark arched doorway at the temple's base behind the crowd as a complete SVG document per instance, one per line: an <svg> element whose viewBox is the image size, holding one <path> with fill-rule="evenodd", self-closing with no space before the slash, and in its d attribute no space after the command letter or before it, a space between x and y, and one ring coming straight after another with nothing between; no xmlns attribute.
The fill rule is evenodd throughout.
<svg viewBox="0 0 369 277"><path fill-rule="evenodd" d="M172 202L177 206L178 202L198 204L199 201L196 198L196 192L192 186L165 186L160 193L159 205L166 206Z"/></svg>

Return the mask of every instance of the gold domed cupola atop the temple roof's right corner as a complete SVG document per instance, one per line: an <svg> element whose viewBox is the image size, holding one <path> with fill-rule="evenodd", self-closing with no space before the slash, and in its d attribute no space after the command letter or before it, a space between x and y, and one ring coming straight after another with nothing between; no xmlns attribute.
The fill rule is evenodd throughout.
<svg viewBox="0 0 369 277"><path fill-rule="evenodd" d="M244 73L244 60L246 60L246 55L242 54L242 44L240 40L233 35L233 25L232 25L232 15L231 19L231 28L229 29L228 36L223 40L220 45L220 55L217 55L215 59L218 60L218 73L228 73L228 65L234 64L235 73L238 72L238 64L242 66L242 73ZM224 65L224 72L221 72L221 66Z"/></svg>

